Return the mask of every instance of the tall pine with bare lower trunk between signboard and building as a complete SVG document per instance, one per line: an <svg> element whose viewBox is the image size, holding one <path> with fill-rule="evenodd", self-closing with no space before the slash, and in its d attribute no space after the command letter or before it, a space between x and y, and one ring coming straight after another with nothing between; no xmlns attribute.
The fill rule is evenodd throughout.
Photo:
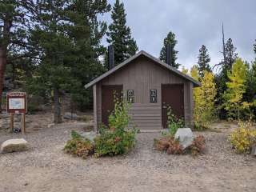
<svg viewBox="0 0 256 192"><path fill-rule="evenodd" d="M68 0L41 0L38 1L38 10L35 26L31 34L31 41L37 44L42 54L37 76L33 79L48 90L54 98L54 122L59 123L61 118L61 92L70 82L70 53L73 48L72 41L66 35L66 29L71 27L67 19ZM72 58L72 57L71 57Z"/></svg>

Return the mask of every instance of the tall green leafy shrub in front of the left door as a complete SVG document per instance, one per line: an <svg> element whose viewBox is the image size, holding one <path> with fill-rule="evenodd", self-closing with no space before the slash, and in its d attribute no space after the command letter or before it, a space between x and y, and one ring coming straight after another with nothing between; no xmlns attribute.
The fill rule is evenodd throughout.
<svg viewBox="0 0 256 192"><path fill-rule="evenodd" d="M125 99L115 98L114 111L109 117L109 126L102 126L100 135L94 139L95 157L126 154L135 144L136 130L127 130L130 122L129 104Z"/></svg>

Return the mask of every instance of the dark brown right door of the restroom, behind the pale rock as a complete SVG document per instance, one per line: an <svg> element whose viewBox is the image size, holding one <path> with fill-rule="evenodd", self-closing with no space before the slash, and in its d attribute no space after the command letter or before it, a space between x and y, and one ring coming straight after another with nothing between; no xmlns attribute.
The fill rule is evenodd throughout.
<svg viewBox="0 0 256 192"><path fill-rule="evenodd" d="M162 84L162 127L167 128L167 106L178 118L184 118L183 84Z"/></svg>

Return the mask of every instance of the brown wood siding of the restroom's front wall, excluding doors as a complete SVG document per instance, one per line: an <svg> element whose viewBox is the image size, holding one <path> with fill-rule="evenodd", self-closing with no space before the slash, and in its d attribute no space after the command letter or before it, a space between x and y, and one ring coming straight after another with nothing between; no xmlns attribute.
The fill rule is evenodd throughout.
<svg viewBox="0 0 256 192"><path fill-rule="evenodd" d="M134 124L138 128L161 129L162 128L162 95L161 84L184 84L184 114L186 125L189 126L192 120L193 93L192 82L178 77L177 74L162 68L158 63L149 58L141 56L132 63L124 66L114 74L102 79L97 83L97 120L102 121L101 86L102 85L123 85L124 95L126 90L134 90L134 104L130 114ZM156 89L158 102L150 103L150 89ZM151 110L149 110L151 109Z"/></svg>

